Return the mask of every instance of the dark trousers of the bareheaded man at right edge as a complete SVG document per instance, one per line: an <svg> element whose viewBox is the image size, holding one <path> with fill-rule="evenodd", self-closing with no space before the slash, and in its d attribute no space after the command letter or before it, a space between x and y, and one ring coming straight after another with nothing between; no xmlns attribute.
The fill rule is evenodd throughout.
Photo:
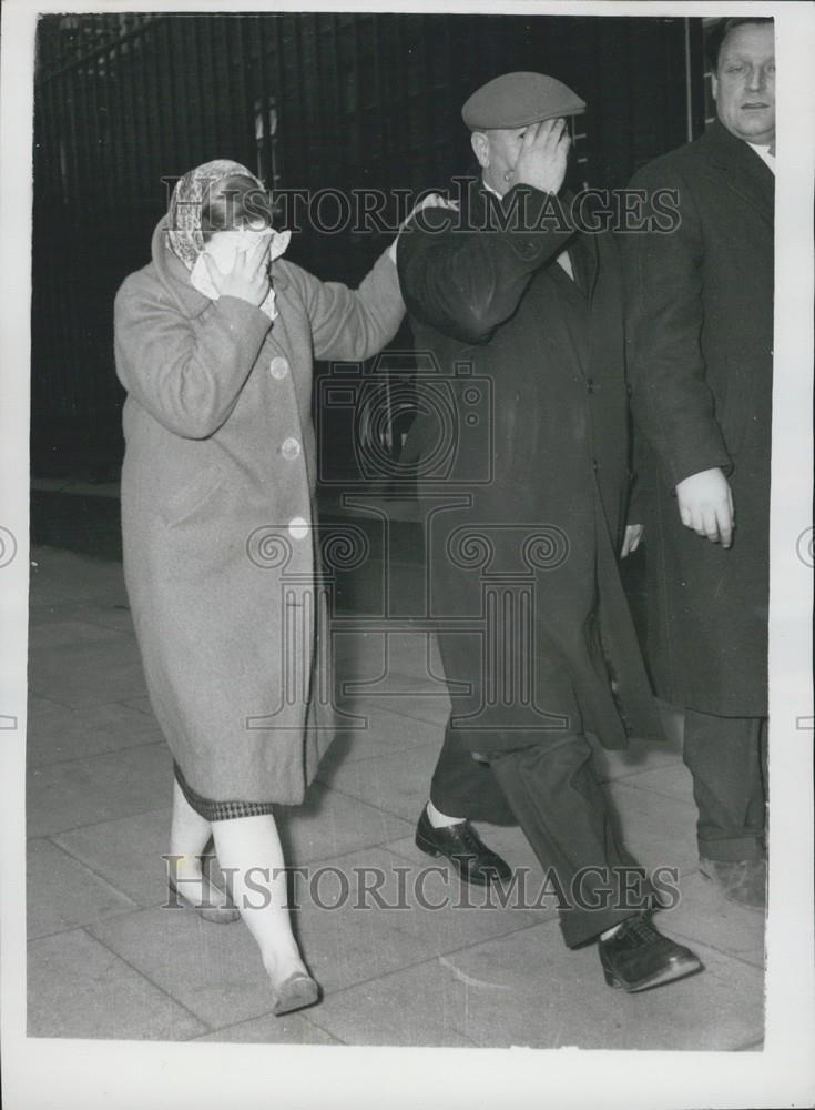
<svg viewBox="0 0 815 1110"><path fill-rule="evenodd" d="M766 717L685 710L683 758L699 808L699 852L735 861L764 856Z"/></svg>

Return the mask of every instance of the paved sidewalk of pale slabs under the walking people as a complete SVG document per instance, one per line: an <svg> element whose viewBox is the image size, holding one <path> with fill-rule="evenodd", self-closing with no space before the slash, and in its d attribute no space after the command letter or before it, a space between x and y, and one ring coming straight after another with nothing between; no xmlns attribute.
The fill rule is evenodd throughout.
<svg viewBox="0 0 815 1110"><path fill-rule="evenodd" d="M28 724L29 1035L318 1045L605 1049L760 1049L764 922L699 872L695 807L672 740L598 751L628 846L678 867L681 900L660 915L705 971L628 996L608 988L593 946L569 951L552 909L429 909L417 901L414 846L449 700L424 633L346 636L345 707L368 727L328 753L306 805L281 809L287 861L324 868L318 900L343 876L379 868L410 908L320 908L303 888L296 927L323 1002L275 1018L243 922L208 925L163 908L171 759L152 717L122 568L32 548ZM399 588L410 589L410 568ZM418 571L418 568L415 568ZM429 664L429 665L428 665ZM386 674L385 679L378 676ZM479 825L513 868L540 868L517 828ZM395 870L401 868L401 871ZM368 874L373 875L370 870ZM427 900L455 900L446 872Z"/></svg>

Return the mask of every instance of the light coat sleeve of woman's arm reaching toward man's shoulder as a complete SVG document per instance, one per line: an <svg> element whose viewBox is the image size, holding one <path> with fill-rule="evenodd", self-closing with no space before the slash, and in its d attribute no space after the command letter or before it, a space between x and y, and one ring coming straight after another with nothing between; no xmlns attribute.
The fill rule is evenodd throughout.
<svg viewBox="0 0 815 1110"><path fill-rule="evenodd" d="M405 302L387 251L356 290L319 281L299 266L287 270L303 297L316 359L370 359L398 332Z"/></svg>

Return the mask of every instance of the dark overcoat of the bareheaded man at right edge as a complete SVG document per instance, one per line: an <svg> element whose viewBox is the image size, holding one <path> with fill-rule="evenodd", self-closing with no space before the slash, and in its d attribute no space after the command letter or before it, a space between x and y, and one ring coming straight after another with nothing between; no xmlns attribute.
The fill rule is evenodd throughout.
<svg viewBox="0 0 815 1110"><path fill-rule="evenodd" d="M767 707L774 184L715 122L632 181L651 203L676 190L675 230L623 241L648 659L664 698L724 716ZM676 483L714 466L735 503L730 549L676 507Z"/></svg>

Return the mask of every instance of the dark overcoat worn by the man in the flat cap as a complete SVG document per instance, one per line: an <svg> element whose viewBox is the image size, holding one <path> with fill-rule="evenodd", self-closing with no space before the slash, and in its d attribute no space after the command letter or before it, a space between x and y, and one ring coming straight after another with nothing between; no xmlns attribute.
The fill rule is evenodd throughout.
<svg viewBox="0 0 815 1110"><path fill-rule="evenodd" d="M562 214L517 185L495 205L479 185L399 243L421 410L404 457L451 728L477 751L551 729L609 747L625 746L626 724L661 735L617 562L629 487L617 244L543 220L552 203ZM567 245L574 281L556 261Z"/></svg>

